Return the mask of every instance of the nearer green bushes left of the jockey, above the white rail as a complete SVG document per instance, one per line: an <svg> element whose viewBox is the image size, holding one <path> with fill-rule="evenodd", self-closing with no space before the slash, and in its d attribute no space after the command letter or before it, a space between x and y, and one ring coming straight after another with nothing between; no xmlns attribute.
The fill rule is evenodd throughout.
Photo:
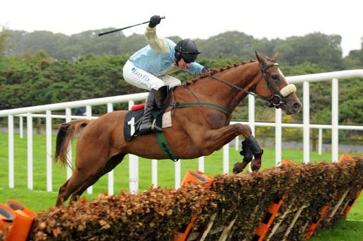
<svg viewBox="0 0 363 241"><path fill-rule="evenodd" d="M129 56L87 55L54 61L44 51L0 65L0 109L143 92L122 79Z"/></svg>

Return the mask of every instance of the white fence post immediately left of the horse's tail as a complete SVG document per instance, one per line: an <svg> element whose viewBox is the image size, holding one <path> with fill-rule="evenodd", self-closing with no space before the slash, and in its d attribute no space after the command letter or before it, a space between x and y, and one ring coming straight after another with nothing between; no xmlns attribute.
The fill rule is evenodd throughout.
<svg viewBox="0 0 363 241"><path fill-rule="evenodd" d="M45 136L46 136L46 163L47 163L47 191L52 191L52 112L45 112Z"/></svg>

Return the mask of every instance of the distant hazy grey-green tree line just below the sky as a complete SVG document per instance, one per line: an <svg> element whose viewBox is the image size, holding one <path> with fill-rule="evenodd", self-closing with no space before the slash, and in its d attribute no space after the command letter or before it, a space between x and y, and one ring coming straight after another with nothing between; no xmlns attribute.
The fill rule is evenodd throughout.
<svg viewBox="0 0 363 241"><path fill-rule="evenodd" d="M7 43L11 48L8 48L5 54L14 56L45 50L52 59L75 61L87 54L131 54L146 45L146 39L142 34L126 37L122 32L115 32L98 36L98 33L109 30L113 29L89 30L71 36L46 31L8 30L10 36ZM175 42L181 40L179 36L170 36L170 39ZM235 58L248 61L254 59L254 51L258 51L267 56L280 52L280 62L283 65L308 62L325 70L342 70L351 68L351 65L362 65L362 51L353 51L347 60L342 59L341 40L339 35L320 32L292 36L285 40L268 40L254 39L243 32L230 31L211 36L209 39L195 39L195 42L202 52L201 58L206 59Z"/></svg>

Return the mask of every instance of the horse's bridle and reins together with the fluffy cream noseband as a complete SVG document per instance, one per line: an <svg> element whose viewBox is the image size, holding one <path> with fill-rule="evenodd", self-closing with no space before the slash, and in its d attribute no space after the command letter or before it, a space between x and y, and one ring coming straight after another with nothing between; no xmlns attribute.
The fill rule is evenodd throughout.
<svg viewBox="0 0 363 241"><path fill-rule="evenodd" d="M295 85L287 85L285 87L283 87L283 89L281 89L281 92L283 92L283 94L281 94L281 92L278 92L276 91L276 88L274 87L274 85L271 84L270 82L270 79L267 77L267 74L266 74L266 70L270 67L273 67L273 66L278 66L278 63L271 63L270 65L266 65L266 66L263 66L261 65L261 72L262 72L262 75L263 75L263 78L265 79L266 81L266 85L267 87L271 90L272 92L272 95L270 96L270 98L267 98L265 96L260 96L259 94L256 94L253 92L253 90L256 88L256 85L257 83L259 83L259 81L257 81L256 85L254 85L254 87L252 87L252 91L248 91L248 90L245 90L237 85L234 85L228 81L225 81L223 80L223 78L219 78L217 76L212 76L211 74L207 74L210 78L214 78L215 80L217 81L220 81L222 83L224 83L225 85L228 85L236 90L239 90L241 92L245 92L246 94L250 94L256 98L261 98L265 101L268 101L270 103L270 107L280 107L280 105L282 104L285 104L285 97L288 96L289 94L293 93L293 92L296 92L296 87Z"/></svg>

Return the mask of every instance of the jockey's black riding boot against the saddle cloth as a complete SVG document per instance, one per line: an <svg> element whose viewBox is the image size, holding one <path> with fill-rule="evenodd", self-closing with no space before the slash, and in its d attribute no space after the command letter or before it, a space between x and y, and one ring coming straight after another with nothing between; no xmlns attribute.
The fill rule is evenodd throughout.
<svg viewBox="0 0 363 241"><path fill-rule="evenodd" d="M162 128L158 127L156 123L153 125L151 121L153 119L153 114L151 114L151 111L155 108L156 105L155 94L156 90L151 90L148 93L148 98L145 103L144 116L142 116L142 123L140 125L140 132L142 134L147 134L151 131L162 132Z"/></svg>

